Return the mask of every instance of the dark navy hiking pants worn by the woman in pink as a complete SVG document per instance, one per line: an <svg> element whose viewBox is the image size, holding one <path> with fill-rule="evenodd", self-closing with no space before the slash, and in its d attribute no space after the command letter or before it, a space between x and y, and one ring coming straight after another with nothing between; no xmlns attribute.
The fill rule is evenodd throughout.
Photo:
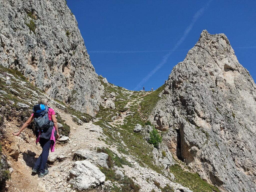
<svg viewBox="0 0 256 192"><path fill-rule="evenodd" d="M41 155L38 157L34 169L39 170L41 173L45 173L45 166L48 159L50 147L51 147L51 140L40 138L39 141L43 151Z"/></svg>

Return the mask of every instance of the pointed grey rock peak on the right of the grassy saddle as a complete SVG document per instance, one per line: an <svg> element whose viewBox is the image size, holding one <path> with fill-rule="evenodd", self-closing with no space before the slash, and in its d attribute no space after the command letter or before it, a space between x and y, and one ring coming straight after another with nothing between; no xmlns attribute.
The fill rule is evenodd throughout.
<svg viewBox="0 0 256 192"><path fill-rule="evenodd" d="M256 91L224 34L202 31L152 115L164 143L222 191L256 191Z"/></svg>

